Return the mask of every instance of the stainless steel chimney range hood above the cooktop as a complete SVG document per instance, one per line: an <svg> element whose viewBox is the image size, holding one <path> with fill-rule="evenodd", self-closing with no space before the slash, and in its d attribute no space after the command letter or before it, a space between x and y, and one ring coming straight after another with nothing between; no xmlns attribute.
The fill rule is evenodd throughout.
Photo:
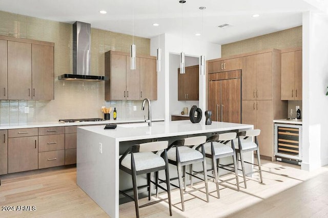
<svg viewBox="0 0 328 218"><path fill-rule="evenodd" d="M73 73L62 74L58 79L104 81L105 76L90 75L91 60L91 32L90 24L76 21L73 24Z"/></svg>

